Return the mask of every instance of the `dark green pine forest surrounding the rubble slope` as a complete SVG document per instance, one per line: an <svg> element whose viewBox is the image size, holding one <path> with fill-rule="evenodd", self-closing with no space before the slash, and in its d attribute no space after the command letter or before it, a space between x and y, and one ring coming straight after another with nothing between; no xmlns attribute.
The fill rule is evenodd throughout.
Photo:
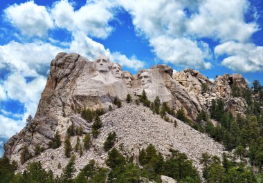
<svg viewBox="0 0 263 183"><path fill-rule="evenodd" d="M78 110L87 122L93 122L92 133L84 135L83 141L77 139L75 147L71 146L70 138L75 135L82 135L83 129L71 125L67 131L64 142L64 155L69 157L68 164L62 168L60 164L57 168L62 168L61 175L55 175L52 171L45 171L41 162L31 162L23 173L16 173L17 162L10 162L8 157L0 159L0 182L26 183L26 182L161 182L161 175L167 175L178 182L263 182L263 87L258 81L253 82L253 86L246 90L240 90L237 86L232 86L233 97L243 97L246 99L248 108L246 116L233 116L230 111L225 110L223 99L213 99L209 111L202 110L197 119L192 121L185 116L183 108L174 113L174 110L164 102L161 104L158 96L154 102L147 99L143 91L140 99L132 100L127 95L126 102L142 103L149 107L153 113L161 115L166 122L172 122L170 115L190 124L193 128L202 133L208 133L217 142L224 144L227 151L232 153L223 154L222 158L203 153L199 163L203 166L202 175L193 166L184 153L170 149L171 155L164 158L156 148L149 144L147 148L141 149L138 155L138 162L134 161L134 156L124 156L122 146L114 147L116 133L111 132L104 144L104 149L108 152L105 164L107 168L100 167L95 160L90 160L89 164L76 173L75 155L82 155L83 151L91 148L92 139L98 137L102 121L100 115L102 110ZM114 105L121 107L120 100L116 97ZM109 110L113 110L109 106ZM215 119L218 124L212 124L211 119ZM176 121L172 122L176 126ZM62 146L60 135L55 134L50 142L50 148ZM36 155L44 151L42 147L36 146ZM31 158L26 146L21 153L21 162L24 163Z"/></svg>

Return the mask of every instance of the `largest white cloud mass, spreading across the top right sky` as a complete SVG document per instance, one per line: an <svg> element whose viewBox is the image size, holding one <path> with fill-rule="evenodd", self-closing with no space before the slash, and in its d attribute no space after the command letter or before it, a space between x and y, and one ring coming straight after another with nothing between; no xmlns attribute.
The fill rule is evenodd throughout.
<svg viewBox="0 0 263 183"><path fill-rule="evenodd" d="M194 68L210 68L209 45L194 41L208 37L221 42L248 41L258 30L246 23L247 0L148 1L118 0L133 19L136 31L145 35L159 59ZM145 8L147 7L147 8Z"/></svg>

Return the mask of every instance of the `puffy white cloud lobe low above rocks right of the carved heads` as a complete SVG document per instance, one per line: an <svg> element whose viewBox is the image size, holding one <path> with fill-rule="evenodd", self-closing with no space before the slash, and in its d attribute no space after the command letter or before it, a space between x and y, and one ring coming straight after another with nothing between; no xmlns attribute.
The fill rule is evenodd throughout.
<svg viewBox="0 0 263 183"><path fill-rule="evenodd" d="M203 61L209 56L209 47L190 39L171 39L160 36L150 40L157 57L165 62L193 68L210 68L210 62Z"/></svg>

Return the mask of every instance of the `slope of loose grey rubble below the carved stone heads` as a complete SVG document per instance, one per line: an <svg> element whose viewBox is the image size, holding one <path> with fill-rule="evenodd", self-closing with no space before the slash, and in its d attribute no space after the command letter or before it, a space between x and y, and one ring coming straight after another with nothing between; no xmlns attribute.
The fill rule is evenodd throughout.
<svg viewBox="0 0 263 183"><path fill-rule="evenodd" d="M153 144L156 150L165 157L170 155L170 148L179 150L188 155L193 160L194 166L201 171L199 158L202 153L217 155L221 157L224 152L224 146L215 142L208 135L194 130L192 127L170 116L170 119L176 120L177 126L173 123L165 122L159 115L154 115L149 108L136 104L124 104L121 108L106 113L101 116L102 128L97 139L93 139L89 151L84 151L82 157L76 153L75 166L78 171L93 159L101 166L105 166L107 152L103 149L103 144L108 133L116 132L117 140L115 147L123 155L134 155L134 160L138 162L138 153L142 148ZM80 137L80 142L82 138ZM71 137L71 145L75 146L76 137ZM121 148L120 148L121 147ZM62 169L57 169L57 164L62 168L66 166L69 158L64 156L64 146L55 150L48 149L41 155L33 157L32 161L40 161L43 167L51 169L54 173L60 174ZM26 162L26 164L28 164ZM20 166L19 171L26 168L26 164Z"/></svg>

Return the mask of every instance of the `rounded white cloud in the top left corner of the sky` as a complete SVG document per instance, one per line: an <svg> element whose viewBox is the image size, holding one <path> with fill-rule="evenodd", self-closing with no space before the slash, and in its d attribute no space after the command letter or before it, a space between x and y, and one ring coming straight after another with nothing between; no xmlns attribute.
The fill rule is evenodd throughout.
<svg viewBox="0 0 263 183"><path fill-rule="evenodd" d="M53 21L44 6L38 6L34 1L17 5L16 3L4 10L6 18L13 26L29 37L44 37L48 29L53 28Z"/></svg>

